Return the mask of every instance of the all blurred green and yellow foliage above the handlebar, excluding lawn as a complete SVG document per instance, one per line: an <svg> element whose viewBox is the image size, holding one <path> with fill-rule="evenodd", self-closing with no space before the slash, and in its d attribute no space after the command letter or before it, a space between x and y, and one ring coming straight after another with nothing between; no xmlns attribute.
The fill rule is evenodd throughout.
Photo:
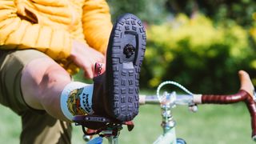
<svg viewBox="0 0 256 144"><path fill-rule="evenodd" d="M138 15L146 26L141 86L164 80L194 93L238 90L238 70L256 84L254 0L109 0L113 19Z"/></svg>

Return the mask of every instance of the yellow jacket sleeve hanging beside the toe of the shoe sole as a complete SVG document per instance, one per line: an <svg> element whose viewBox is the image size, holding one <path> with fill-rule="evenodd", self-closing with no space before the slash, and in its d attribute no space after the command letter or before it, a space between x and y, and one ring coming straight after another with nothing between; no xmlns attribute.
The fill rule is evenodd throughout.
<svg viewBox="0 0 256 144"><path fill-rule="evenodd" d="M86 0L83 6L82 25L86 42L105 53L112 23L110 9L105 0Z"/></svg>

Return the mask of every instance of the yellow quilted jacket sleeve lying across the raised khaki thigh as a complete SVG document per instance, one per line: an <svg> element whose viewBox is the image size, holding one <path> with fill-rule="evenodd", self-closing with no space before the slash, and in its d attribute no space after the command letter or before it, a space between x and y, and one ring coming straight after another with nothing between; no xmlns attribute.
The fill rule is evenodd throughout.
<svg viewBox="0 0 256 144"><path fill-rule="evenodd" d="M72 39L68 32L40 26L22 18L17 11L13 0L0 0L0 49L34 48L55 60L70 55Z"/></svg>

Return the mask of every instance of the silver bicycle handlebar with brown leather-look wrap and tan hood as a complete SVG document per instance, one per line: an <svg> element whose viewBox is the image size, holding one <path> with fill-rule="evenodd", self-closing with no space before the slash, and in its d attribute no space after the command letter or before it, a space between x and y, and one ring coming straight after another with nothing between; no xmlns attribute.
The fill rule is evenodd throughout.
<svg viewBox="0 0 256 144"><path fill-rule="evenodd" d="M254 94L254 86L250 80L249 74L245 71L240 70L238 72L240 78L240 90L237 94L229 95L217 95L217 94L172 94L168 101L171 105L196 105L196 104L230 104L236 102L245 102L247 109L250 112L251 128L252 128L252 139L256 141L256 102ZM156 95L143 96L140 95L139 102L141 105L159 104L166 102L166 100L160 102Z"/></svg>

